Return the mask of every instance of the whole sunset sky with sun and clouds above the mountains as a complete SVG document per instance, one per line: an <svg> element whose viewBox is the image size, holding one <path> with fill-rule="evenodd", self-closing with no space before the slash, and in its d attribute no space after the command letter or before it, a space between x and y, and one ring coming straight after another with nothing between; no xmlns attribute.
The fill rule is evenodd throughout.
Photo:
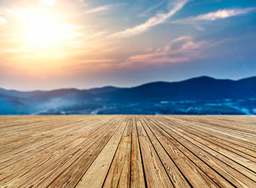
<svg viewBox="0 0 256 188"><path fill-rule="evenodd" d="M0 87L256 75L254 0L0 0Z"/></svg>

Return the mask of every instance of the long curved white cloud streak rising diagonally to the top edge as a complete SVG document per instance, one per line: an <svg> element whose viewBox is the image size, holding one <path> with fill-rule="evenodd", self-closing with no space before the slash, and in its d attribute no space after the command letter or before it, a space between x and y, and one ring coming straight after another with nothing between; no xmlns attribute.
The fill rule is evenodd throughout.
<svg viewBox="0 0 256 188"><path fill-rule="evenodd" d="M151 17L146 21L145 23L140 24L139 26L135 26L130 29L126 29L122 32L116 32L111 35L111 37L128 37L133 35L139 35L142 32L148 31L148 29L151 29L151 27L157 26L160 23L165 23L166 20L168 20L170 17L172 17L176 12L180 11L181 8L186 5L187 0L179 1L178 3L175 3L172 9L169 10L166 14L157 14L154 17Z"/></svg>

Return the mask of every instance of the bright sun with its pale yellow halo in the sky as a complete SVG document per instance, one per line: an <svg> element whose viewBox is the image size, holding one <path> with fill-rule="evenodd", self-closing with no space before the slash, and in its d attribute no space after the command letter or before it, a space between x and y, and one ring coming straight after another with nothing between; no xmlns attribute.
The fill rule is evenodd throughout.
<svg viewBox="0 0 256 188"><path fill-rule="evenodd" d="M66 7L41 5L11 10L6 26L12 39L6 42L6 53L15 54L11 61L21 66L63 65L83 53L88 34L80 20L65 13Z"/></svg>

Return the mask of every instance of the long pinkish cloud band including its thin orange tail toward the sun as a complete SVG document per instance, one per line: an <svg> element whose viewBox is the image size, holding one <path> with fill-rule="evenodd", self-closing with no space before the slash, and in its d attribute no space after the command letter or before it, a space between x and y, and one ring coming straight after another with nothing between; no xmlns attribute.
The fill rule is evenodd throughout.
<svg viewBox="0 0 256 188"><path fill-rule="evenodd" d="M104 71L127 70L162 66L169 63L190 62L194 59L203 59L206 56L203 50L214 47L221 42L196 41L190 36L181 36L156 49L148 49L145 53L129 56L120 62L120 59L87 59L79 60L75 66L79 70L95 70L100 67ZM120 63L118 63L120 62ZM97 66L95 66L97 64ZM96 69L95 69L96 68Z"/></svg>

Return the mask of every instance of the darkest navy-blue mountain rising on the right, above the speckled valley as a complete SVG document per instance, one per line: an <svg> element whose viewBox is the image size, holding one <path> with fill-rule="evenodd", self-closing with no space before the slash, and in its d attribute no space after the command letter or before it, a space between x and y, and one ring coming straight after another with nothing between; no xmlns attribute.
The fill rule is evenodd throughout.
<svg viewBox="0 0 256 188"><path fill-rule="evenodd" d="M234 81L203 76L180 82L154 82L132 88L117 89L108 95L102 95L102 97L108 96L120 101L245 99L255 97L255 91L256 77Z"/></svg>

